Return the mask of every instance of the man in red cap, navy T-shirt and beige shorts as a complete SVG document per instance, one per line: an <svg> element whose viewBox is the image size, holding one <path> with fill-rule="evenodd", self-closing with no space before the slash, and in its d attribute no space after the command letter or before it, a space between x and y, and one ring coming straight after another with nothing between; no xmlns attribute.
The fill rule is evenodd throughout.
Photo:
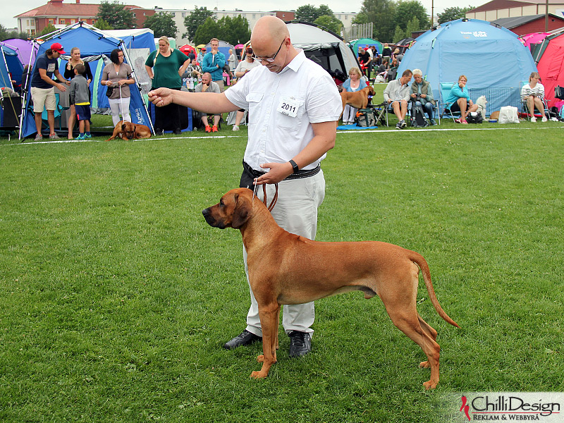
<svg viewBox="0 0 564 423"><path fill-rule="evenodd" d="M49 122L49 138L56 140L59 138L55 133L55 109L56 97L55 88L60 91L66 91L66 87L53 80L55 75L57 80L63 81L66 85L71 82L65 80L61 73L59 73L59 57L61 54L66 54L63 46L58 42L51 44L51 48L45 51L45 54L39 56L36 60L37 64L33 70L31 79L31 97L33 99L33 111L35 112L35 128L37 135L35 140L43 139L41 135L41 114L43 109L47 109L47 122Z"/></svg>

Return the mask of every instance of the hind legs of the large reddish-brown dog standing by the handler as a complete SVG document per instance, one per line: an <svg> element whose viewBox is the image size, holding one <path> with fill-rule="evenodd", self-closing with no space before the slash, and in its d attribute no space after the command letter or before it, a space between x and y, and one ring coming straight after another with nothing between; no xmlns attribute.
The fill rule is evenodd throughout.
<svg viewBox="0 0 564 423"><path fill-rule="evenodd" d="M405 309L398 309L393 307L386 307L386 311L390 316L392 322L400 331L405 333L408 338L421 347L425 355L427 355L427 362L423 362L423 367L431 367L431 379L425 382L423 386L426 389L434 389L439 383L439 352L441 347L434 341L429 333L427 333L427 326L432 329L426 322L419 323L421 319L417 312L407 312ZM433 329L434 331L434 329ZM435 332L436 333L436 332ZM422 365L420 364L420 365Z"/></svg>

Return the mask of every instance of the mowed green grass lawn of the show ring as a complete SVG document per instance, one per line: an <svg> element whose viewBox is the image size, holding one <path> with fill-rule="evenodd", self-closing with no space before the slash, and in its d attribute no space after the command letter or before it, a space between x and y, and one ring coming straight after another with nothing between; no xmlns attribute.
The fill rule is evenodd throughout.
<svg viewBox="0 0 564 423"><path fill-rule="evenodd" d="M0 140L0 421L439 423L451 394L564 391L563 125L440 128L339 133L317 234L424 255L462 328L421 280L435 391L362 293L316 302L307 357L281 329L267 379L249 377L260 344L221 348L249 288L240 233L201 211L238 186L246 130Z"/></svg>

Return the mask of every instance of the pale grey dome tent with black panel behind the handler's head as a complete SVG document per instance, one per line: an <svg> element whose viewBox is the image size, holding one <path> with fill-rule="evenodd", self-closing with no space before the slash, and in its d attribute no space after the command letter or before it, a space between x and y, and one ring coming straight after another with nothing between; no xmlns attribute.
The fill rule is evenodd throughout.
<svg viewBox="0 0 564 423"><path fill-rule="evenodd" d="M299 20L286 22L294 47L303 49L305 56L319 63L333 78L345 80L350 68L360 68L357 57L334 32ZM342 79L345 78L345 79Z"/></svg>

